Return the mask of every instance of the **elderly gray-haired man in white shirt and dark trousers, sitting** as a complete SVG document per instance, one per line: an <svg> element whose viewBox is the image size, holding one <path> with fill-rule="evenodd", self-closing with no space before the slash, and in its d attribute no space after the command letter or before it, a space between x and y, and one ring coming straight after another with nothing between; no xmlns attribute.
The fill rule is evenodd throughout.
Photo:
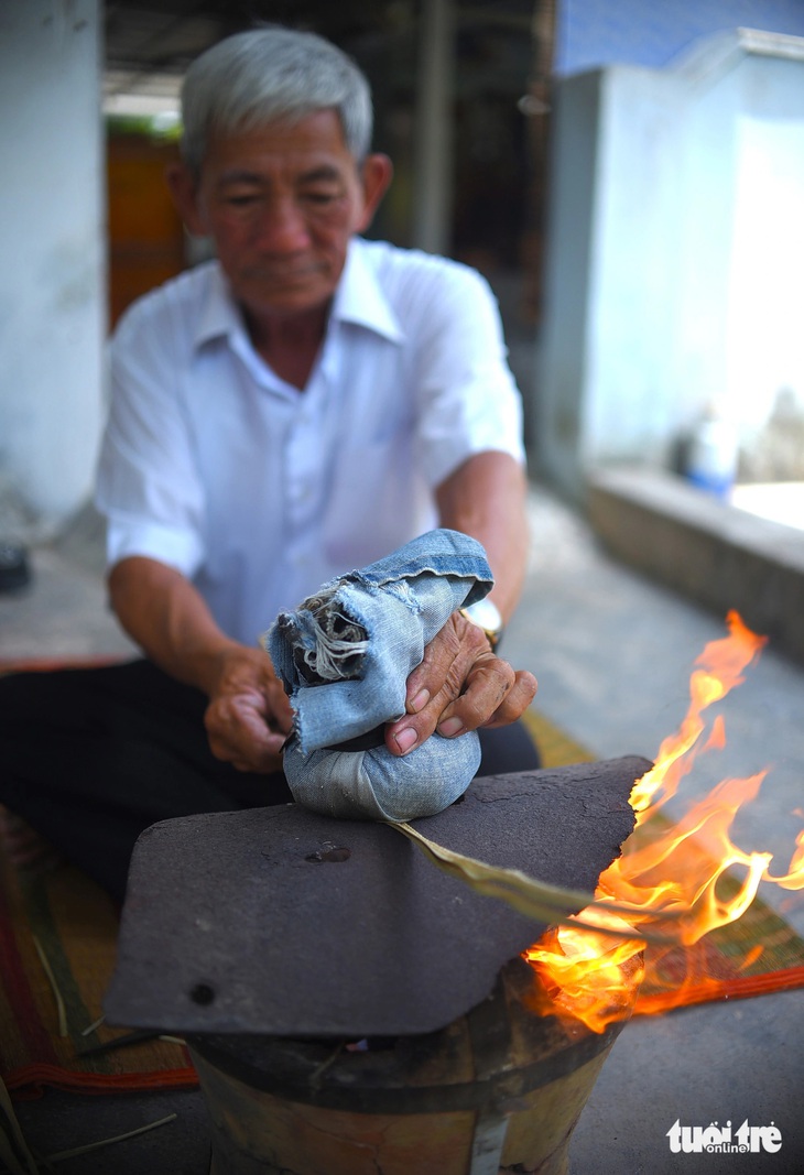
<svg viewBox="0 0 804 1175"><path fill-rule="evenodd" d="M155 820L289 798L292 713L259 634L434 526L483 544L491 606L428 645L386 745L480 728L482 773L537 763L515 724L536 683L494 651L527 523L487 286L360 237L391 164L369 150L366 80L327 41L229 38L192 66L182 107L168 180L216 260L122 320L98 477L112 605L146 659L7 679L0 698L0 800L118 895Z"/></svg>

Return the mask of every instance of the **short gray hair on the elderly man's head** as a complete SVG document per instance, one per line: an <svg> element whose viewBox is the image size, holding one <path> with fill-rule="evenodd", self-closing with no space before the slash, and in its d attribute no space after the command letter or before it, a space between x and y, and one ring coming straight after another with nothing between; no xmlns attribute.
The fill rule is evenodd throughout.
<svg viewBox="0 0 804 1175"><path fill-rule="evenodd" d="M371 142L371 93L354 61L315 33L280 26L235 33L202 53L181 90L182 156L201 173L214 133L335 109L357 162Z"/></svg>

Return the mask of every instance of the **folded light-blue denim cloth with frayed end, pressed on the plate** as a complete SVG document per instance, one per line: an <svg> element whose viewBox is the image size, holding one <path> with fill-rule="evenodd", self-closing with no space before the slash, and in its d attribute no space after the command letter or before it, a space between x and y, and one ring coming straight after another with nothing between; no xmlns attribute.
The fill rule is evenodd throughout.
<svg viewBox="0 0 804 1175"><path fill-rule="evenodd" d="M402 759L384 745L339 744L404 713L406 682L424 646L493 583L480 543L434 530L280 613L264 644L294 710L284 752L294 799L328 815L409 820L463 794L480 765L474 732L434 734Z"/></svg>

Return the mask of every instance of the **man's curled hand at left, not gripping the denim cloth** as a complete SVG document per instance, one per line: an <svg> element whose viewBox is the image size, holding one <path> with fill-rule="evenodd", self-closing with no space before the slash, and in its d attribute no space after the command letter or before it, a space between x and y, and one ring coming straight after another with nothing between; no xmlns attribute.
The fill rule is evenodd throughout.
<svg viewBox="0 0 804 1175"><path fill-rule="evenodd" d="M216 759L237 771L268 774L282 770L281 750L293 726L293 712L270 658L261 649L243 645L221 654L203 720Z"/></svg>

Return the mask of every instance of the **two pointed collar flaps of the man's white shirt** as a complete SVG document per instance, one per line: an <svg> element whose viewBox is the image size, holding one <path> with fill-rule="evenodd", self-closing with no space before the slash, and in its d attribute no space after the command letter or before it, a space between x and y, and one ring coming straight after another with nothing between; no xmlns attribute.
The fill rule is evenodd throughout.
<svg viewBox="0 0 804 1175"><path fill-rule="evenodd" d="M335 291L331 318L366 327L391 342L404 338L404 331L368 262L364 242L349 242L347 260ZM207 300L195 325L195 345L222 336L244 335L246 328L232 297L226 275L214 262Z"/></svg>

